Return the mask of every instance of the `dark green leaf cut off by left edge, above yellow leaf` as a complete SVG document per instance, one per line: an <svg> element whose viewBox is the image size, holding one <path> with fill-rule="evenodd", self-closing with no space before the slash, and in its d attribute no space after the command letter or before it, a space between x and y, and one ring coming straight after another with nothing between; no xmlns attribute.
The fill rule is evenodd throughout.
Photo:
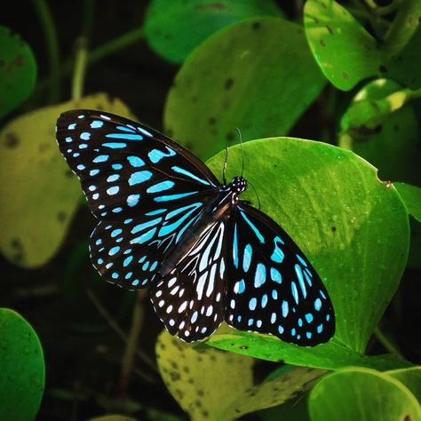
<svg viewBox="0 0 421 421"><path fill-rule="evenodd" d="M18 107L36 83L34 53L19 35L0 26L0 118Z"/></svg>

